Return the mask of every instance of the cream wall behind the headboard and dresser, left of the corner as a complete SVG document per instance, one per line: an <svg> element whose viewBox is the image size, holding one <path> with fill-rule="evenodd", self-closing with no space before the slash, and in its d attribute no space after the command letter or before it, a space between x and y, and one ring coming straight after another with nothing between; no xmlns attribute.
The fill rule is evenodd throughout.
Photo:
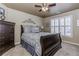
<svg viewBox="0 0 79 59"><path fill-rule="evenodd" d="M37 25L42 26L42 18L38 16L34 16L28 13L24 13L18 10L14 10L6 7L4 4L0 4L0 7L5 9L5 21L14 22L15 25L15 44L20 42L20 33L21 27L20 25L24 20L32 19ZM26 23L27 24L27 23Z"/></svg>

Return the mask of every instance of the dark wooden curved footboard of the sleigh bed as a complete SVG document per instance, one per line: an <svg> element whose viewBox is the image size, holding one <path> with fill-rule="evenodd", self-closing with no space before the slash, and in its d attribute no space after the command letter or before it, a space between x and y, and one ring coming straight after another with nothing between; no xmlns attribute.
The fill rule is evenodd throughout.
<svg viewBox="0 0 79 59"><path fill-rule="evenodd" d="M52 34L42 36L40 39L42 55L51 56L54 55L61 48L61 37L60 34Z"/></svg>

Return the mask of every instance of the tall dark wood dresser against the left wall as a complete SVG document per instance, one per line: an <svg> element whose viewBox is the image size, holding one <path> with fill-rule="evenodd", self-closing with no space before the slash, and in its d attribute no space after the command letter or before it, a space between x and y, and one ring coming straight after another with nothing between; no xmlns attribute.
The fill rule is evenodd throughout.
<svg viewBox="0 0 79 59"><path fill-rule="evenodd" d="M0 20L0 55L14 47L15 23Z"/></svg>

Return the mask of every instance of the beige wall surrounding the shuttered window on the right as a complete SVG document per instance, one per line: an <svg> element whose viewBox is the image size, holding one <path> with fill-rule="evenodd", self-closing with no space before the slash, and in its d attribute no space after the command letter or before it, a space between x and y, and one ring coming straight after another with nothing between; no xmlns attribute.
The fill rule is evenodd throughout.
<svg viewBox="0 0 79 59"><path fill-rule="evenodd" d="M72 37L62 37L63 41L79 45L79 26L77 26L77 20L79 20L79 9L62 13L56 16L51 16L43 19L43 25L44 25L44 31L50 31L50 28L46 26L46 24L49 24L50 19L56 18L56 17L61 17L61 16L66 16L66 15L73 15L73 20L72 20Z"/></svg>

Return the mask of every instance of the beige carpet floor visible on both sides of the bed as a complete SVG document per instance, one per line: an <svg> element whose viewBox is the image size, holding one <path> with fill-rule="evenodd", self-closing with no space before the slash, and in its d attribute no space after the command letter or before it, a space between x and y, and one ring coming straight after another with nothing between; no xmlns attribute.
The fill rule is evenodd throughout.
<svg viewBox="0 0 79 59"><path fill-rule="evenodd" d="M31 54L21 45L17 45L2 56L31 56ZM79 46L62 43L62 48L54 56L79 56Z"/></svg>

